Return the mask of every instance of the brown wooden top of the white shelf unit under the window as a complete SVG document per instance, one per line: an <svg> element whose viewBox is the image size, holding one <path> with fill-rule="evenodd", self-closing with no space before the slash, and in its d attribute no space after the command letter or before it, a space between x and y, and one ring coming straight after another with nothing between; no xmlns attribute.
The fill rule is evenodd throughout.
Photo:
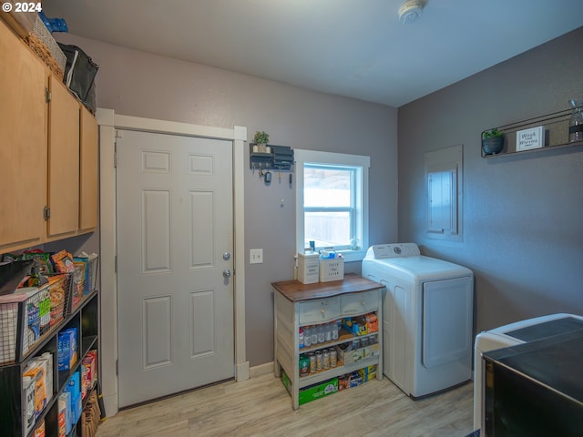
<svg viewBox="0 0 583 437"><path fill-rule="evenodd" d="M384 285L353 273L346 274L342 280L332 280L331 282L303 284L299 280L284 280L272 282L271 287L292 302L326 299L346 293L384 289Z"/></svg>

